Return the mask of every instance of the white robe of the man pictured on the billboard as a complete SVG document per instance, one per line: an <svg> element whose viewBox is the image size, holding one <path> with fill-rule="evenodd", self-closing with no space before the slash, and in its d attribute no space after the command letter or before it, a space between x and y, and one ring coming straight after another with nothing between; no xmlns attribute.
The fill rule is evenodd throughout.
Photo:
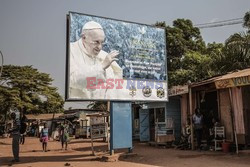
<svg viewBox="0 0 250 167"><path fill-rule="evenodd" d="M82 39L70 43L70 69L69 69L69 98L70 99L104 99L106 89L87 89L87 78L122 79L122 69L113 62L106 70L102 68L102 62L108 55L100 51L97 56L87 53L82 44ZM97 83L95 83L97 84Z"/></svg>

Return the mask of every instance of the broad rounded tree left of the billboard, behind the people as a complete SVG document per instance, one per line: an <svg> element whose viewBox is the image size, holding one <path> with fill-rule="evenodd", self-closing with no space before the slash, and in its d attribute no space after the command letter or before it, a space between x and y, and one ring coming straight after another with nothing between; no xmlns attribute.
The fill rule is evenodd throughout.
<svg viewBox="0 0 250 167"><path fill-rule="evenodd" d="M32 66L6 65L0 79L0 112L11 108L27 113L63 112L64 101L51 86L49 74Z"/></svg>

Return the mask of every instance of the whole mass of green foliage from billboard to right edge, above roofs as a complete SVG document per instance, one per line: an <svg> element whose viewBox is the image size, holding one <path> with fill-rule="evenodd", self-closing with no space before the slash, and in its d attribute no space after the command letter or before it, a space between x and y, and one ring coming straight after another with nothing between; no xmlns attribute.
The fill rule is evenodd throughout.
<svg viewBox="0 0 250 167"><path fill-rule="evenodd" d="M248 32L233 34L224 45L214 42L206 46L190 20L177 19L173 27L165 22L156 26L166 29L170 87L250 67L250 12L245 14L243 24Z"/></svg>

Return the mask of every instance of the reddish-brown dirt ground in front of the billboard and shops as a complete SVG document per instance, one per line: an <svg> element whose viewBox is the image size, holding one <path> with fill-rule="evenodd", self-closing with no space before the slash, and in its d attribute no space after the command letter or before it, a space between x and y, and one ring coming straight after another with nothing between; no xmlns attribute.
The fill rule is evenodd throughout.
<svg viewBox="0 0 250 167"><path fill-rule="evenodd" d="M90 140L73 139L68 150L61 150L60 142L49 141L48 152L42 152L38 138L27 137L20 145L20 162L11 163L11 138L0 139L0 166L18 167L249 167L250 155L222 153L214 151L184 151L173 148L149 146L146 143L133 143L133 156L120 158L117 162L103 162L101 157L108 156L107 143L96 141L95 156L91 155ZM127 149L115 152L115 156Z"/></svg>

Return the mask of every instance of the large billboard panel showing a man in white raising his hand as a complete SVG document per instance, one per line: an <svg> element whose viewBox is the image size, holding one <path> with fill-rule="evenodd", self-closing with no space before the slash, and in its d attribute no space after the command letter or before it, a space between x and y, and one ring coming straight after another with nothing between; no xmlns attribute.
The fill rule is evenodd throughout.
<svg viewBox="0 0 250 167"><path fill-rule="evenodd" d="M70 12L66 100L167 101L165 29Z"/></svg>

